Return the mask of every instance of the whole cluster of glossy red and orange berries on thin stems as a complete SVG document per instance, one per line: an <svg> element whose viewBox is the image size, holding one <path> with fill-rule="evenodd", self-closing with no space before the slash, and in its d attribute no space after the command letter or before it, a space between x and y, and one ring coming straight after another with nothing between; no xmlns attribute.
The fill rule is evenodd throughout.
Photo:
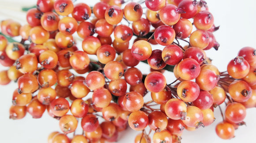
<svg viewBox="0 0 256 143"><path fill-rule="evenodd" d="M127 127L141 131L135 143L180 143L224 104L216 133L231 139L256 107L256 49L242 48L219 72L205 52L219 44L203 0L37 0L26 21L1 21L0 64L9 68L0 85L18 85L11 119L47 110L59 120L48 143L115 142Z"/></svg>

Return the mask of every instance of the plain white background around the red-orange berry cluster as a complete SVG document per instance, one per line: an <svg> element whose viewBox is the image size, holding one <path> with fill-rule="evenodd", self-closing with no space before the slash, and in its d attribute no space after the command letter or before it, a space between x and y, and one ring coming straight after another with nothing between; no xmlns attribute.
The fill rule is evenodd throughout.
<svg viewBox="0 0 256 143"><path fill-rule="evenodd" d="M82 1L82 0L81 0ZM99 0L95 0L98 2ZM83 0L92 4L92 0ZM26 23L26 14L20 12L22 6L32 6L36 0L0 0L0 20L14 18L22 24ZM218 51L208 50L207 56L213 59L221 72L226 71L227 63L236 57L244 46L256 48L256 2L255 0L207 0L208 7L215 18L215 25L220 29L214 33L220 47ZM7 69L0 66L0 70ZM167 81L174 80L172 74L167 75ZM32 119L27 114L22 120L9 119L9 107L13 90L17 85L11 82L8 86L0 86L0 143L46 143L50 132L60 131L58 121L50 118L47 112L40 119ZM215 125L222 121L218 108L215 109L215 122L208 127L196 131L184 131L182 143L248 143L255 140L256 114L255 108L247 110L245 122L235 131L235 138L219 139L215 133ZM121 132L118 142L132 143L139 133L128 129Z"/></svg>

